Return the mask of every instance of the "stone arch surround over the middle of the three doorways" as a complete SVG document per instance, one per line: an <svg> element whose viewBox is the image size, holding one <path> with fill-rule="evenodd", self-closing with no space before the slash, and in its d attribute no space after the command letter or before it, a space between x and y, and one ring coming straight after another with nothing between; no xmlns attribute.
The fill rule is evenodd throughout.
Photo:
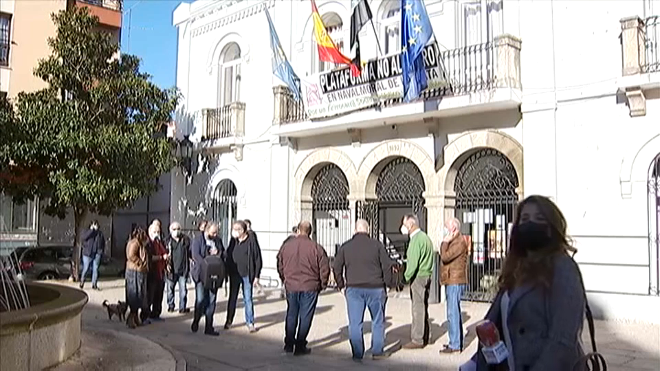
<svg viewBox="0 0 660 371"><path fill-rule="evenodd" d="M384 159L395 156L406 157L417 165L426 182L427 191L437 189L437 177L432 157L418 144L404 139L395 139L382 142L366 154L358 168L358 184L355 188L359 192L357 196L366 199L375 198L376 180L381 170L377 167L384 166L382 164Z"/></svg>

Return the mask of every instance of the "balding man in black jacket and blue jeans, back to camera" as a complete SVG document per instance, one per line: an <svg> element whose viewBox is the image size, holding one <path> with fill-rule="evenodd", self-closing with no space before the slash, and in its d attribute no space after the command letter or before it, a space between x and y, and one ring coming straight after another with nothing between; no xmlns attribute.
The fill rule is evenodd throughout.
<svg viewBox="0 0 660 371"><path fill-rule="evenodd" d="M349 340L355 361L364 357L362 322L365 308L369 308L371 315L372 357L388 357L384 352L385 287L392 282L393 264L382 243L369 236L369 223L358 219L355 235L340 247L333 265L337 287L346 296Z"/></svg>

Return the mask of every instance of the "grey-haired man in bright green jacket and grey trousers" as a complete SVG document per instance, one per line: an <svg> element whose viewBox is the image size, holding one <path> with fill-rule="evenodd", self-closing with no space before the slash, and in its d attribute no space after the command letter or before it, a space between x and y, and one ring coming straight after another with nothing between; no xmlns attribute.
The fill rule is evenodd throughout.
<svg viewBox="0 0 660 371"><path fill-rule="evenodd" d="M420 349L428 344L430 321L428 319L428 291L433 273L433 243L428 235L419 229L415 214L406 214L401 223L401 234L410 236L406 251L406 272L404 279L410 283L412 300L412 324L410 343L404 349Z"/></svg>

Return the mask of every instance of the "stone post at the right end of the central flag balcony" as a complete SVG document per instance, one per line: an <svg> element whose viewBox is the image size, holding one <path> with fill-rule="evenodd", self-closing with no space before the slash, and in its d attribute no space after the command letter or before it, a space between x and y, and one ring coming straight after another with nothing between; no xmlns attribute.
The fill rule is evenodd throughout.
<svg viewBox="0 0 660 371"><path fill-rule="evenodd" d="M520 89L520 47L516 36L503 34L495 38L496 71L495 86Z"/></svg>

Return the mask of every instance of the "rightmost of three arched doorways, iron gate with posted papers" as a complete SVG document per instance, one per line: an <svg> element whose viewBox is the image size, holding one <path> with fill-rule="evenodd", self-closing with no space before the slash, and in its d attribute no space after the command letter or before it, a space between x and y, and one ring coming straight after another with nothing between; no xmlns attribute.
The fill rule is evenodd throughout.
<svg viewBox="0 0 660 371"><path fill-rule="evenodd" d="M507 253L514 210L518 203L518 175L511 161L493 148L481 148L459 167L454 182L454 215L468 239L466 300L489 301Z"/></svg>

